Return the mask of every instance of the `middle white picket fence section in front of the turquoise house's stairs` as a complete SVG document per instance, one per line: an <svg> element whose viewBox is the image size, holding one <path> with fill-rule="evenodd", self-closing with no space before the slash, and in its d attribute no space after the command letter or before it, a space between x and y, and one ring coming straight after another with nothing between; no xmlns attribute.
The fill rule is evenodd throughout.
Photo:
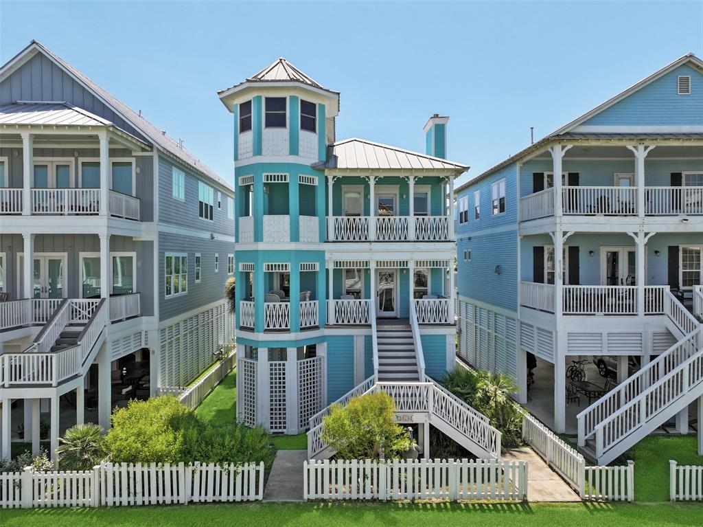
<svg viewBox="0 0 703 527"><path fill-rule="evenodd" d="M496 459L304 462L305 500L527 500L527 463Z"/></svg>

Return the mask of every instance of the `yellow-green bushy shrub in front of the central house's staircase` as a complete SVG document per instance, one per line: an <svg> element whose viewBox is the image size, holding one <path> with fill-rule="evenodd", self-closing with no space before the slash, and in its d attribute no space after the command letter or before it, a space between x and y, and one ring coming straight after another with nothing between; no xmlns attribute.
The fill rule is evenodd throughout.
<svg viewBox="0 0 703 527"><path fill-rule="evenodd" d="M323 419L322 438L342 459L396 459L412 445L406 428L395 421L395 402L387 393L333 405Z"/></svg>

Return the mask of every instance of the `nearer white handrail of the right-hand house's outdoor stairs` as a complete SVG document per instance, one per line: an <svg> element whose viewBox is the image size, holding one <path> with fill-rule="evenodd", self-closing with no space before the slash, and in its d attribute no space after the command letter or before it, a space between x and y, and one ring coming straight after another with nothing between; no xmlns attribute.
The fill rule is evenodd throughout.
<svg viewBox="0 0 703 527"><path fill-rule="evenodd" d="M703 329L697 329L696 331L693 332L693 334L699 334L703 331ZM682 338L681 341L688 340L688 338L695 336L693 334L689 334L686 336L686 338ZM697 386L697 384L703 382L703 374L698 375L698 379L694 382L691 383L692 380L692 374L695 373L697 370L700 371L702 368L701 366L703 364L699 364L699 367L693 370L693 372L690 372L690 365L696 361L702 361L703 359L703 348L697 350L697 352L693 353L686 359L685 361L681 362L681 364L678 364L675 368L671 369L671 371L667 372L664 376L660 377L657 379L657 381L652 384L652 386L649 386L646 388L644 391L642 391L637 398L634 398L633 400L629 401L626 405L623 405L622 407L619 407L617 411L613 412L610 414L608 417L600 421L595 426L595 455L596 457L600 458L604 453L607 448L604 445L605 442L605 433L604 433L604 428L609 425L612 421L617 419L619 416L622 414L626 414L629 409L632 407L638 406L639 407L639 412L643 412L644 414L640 414L639 419L637 420L638 424L637 425L632 425L631 423L631 428L628 428L625 432L621 432L617 440L612 441L607 445L608 448L612 447L612 445L615 445L619 443L628 433L633 431L636 428L639 428L643 424L645 424L647 420L647 396L650 395L651 393L654 393L655 391L659 390L666 384L667 381L670 379L673 379L676 377L678 374L681 372L684 372L684 374L681 376L681 379L683 379L683 382L681 383L681 386L678 387L678 391L676 395L671 395L669 393L668 400L666 404L670 404L671 401L678 399L681 397L681 395L684 395L687 391L690 390L691 386ZM703 362L703 361L702 361ZM652 400L656 400L656 398L652 398ZM654 414L652 414L654 415ZM625 426L628 424L628 420L625 420L624 423L621 423L619 426L619 430L624 430Z"/></svg>

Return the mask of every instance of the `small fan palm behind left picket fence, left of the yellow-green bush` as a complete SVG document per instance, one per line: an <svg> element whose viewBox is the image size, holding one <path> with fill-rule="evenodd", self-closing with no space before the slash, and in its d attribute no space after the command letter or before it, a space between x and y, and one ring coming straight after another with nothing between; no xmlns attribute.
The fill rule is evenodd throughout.
<svg viewBox="0 0 703 527"><path fill-rule="evenodd" d="M90 470L105 457L103 428L97 424L79 424L68 428L56 448L62 470Z"/></svg>

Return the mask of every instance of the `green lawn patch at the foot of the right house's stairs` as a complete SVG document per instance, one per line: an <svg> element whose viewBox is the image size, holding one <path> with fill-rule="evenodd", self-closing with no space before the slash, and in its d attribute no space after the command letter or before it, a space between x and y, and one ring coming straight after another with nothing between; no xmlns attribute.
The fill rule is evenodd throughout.
<svg viewBox="0 0 703 527"><path fill-rule="evenodd" d="M635 462L637 502L669 501L669 459L678 464L703 465L703 457L698 455L695 434L644 438L620 460L624 463L626 459ZM703 524L703 519L700 524Z"/></svg>

